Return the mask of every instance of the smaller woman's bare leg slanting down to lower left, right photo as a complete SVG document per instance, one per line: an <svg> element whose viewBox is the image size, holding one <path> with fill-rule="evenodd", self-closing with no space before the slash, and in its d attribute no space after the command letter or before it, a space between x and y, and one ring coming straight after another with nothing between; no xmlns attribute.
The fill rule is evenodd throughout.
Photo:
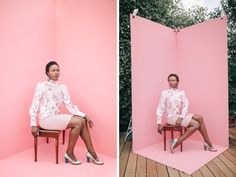
<svg viewBox="0 0 236 177"><path fill-rule="evenodd" d="M199 129L200 124L195 121L195 120L191 120L189 123L189 128L187 129L187 131L178 138L174 148L176 148L178 145L180 145L184 140L186 140L189 136L191 136L195 131L197 131Z"/></svg>

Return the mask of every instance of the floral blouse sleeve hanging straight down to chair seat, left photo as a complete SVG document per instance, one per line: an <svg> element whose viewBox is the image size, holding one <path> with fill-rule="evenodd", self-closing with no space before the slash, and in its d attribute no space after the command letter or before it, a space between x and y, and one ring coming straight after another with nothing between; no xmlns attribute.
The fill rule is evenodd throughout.
<svg viewBox="0 0 236 177"><path fill-rule="evenodd" d="M42 98L42 93L43 93L43 86L42 86L42 84L38 83L35 93L34 93L31 107L29 109L30 118L31 118L30 119L31 126L36 126L36 122L37 122L36 118L37 118L37 114L38 114L38 110L39 110L40 101Z"/></svg>

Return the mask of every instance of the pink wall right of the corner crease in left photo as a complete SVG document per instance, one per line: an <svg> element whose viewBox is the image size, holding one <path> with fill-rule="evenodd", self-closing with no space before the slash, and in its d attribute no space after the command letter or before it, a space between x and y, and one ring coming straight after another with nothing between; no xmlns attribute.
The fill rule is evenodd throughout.
<svg viewBox="0 0 236 177"><path fill-rule="evenodd" d="M94 121L91 135L97 151L115 156L116 1L58 1L56 12L60 80Z"/></svg>

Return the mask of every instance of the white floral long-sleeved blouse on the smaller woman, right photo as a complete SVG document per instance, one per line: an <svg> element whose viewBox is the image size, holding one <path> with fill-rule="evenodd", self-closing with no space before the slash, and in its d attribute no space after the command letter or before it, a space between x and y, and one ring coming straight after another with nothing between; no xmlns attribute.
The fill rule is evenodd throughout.
<svg viewBox="0 0 236 177"><path fill-rule="evenodd" d="M163 113L167 118L178 115L184 118L188 113L188 99L185 92L175 88L163 90L156 110L157 124L161 124Z"/></svg>

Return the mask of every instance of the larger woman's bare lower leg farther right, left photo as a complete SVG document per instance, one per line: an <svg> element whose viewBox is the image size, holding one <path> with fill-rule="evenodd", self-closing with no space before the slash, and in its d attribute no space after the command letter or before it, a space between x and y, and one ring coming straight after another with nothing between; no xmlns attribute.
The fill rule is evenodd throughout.
<svg viewBox="0 0 236 177"><path fill-rule="evenodd" d="M93 156L94 159L98 159L97 154L96 154L93 144L92 144L92 140L91 140L91 136L89 133L89 129L88 129L88 125L87 125L86 120L83 122L83 129L81 131L80 136L83 139L83 141L88 149L88 152Z"/></svg>

